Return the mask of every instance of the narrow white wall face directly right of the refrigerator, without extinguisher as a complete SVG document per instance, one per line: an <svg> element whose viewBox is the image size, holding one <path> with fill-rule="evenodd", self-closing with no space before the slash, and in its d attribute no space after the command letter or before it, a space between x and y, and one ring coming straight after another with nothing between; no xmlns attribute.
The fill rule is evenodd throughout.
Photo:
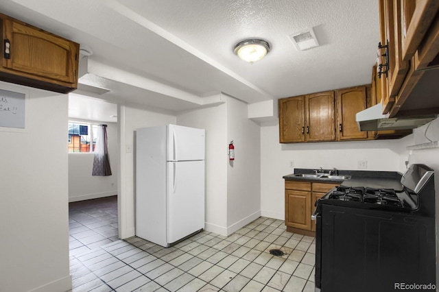
<svg viewBox="0 0 439 292"><path fill-rule="evenodd" d="M227 234L227 106L179 114L178 125L206 130L206 217L209 232Z"/></svg>

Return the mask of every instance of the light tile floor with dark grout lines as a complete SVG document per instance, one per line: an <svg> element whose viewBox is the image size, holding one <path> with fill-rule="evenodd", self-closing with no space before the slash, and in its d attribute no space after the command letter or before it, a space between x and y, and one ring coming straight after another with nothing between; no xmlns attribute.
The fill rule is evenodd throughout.
<svg viewBox="0 0 439 292"><path fill-rule="evenodd" d="M314 238L281 220L260 217L230 236L204 231L168 248L136 236L99 241L71 248L73 292L314 291Z"/></svg>

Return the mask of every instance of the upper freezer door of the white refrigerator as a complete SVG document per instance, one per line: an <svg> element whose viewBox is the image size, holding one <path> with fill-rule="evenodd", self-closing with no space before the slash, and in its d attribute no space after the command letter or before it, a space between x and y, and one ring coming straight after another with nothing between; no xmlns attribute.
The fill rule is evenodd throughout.
<svg viewBox="0 0 439 292"><path fill-rule="evenodd" d="M168 125L167 135L167 161L204 160L203 129Z"/></svg>

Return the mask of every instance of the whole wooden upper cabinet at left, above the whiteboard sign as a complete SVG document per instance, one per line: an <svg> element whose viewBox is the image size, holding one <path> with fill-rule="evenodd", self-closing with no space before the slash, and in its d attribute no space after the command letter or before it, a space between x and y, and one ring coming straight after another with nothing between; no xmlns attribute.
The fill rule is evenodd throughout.
<svg viewBox="0 0 439 292"><path fill-rule="evenodd" d="M0 80L68 93L78 87L79 45L0 14Z"/></svg>

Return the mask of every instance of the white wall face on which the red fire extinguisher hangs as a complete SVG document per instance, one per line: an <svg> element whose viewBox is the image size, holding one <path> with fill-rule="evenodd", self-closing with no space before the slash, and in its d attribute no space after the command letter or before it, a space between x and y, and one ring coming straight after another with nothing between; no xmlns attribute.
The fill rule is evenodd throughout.
<svg viewBox="0 0 439 292"><path fill-rule="evenodd" d="M222 147L227 148L230 141L235 146L235 160L227 165L227 226L231 234L261 216L261 130L248 119L247 104L226 97L226 105L227 143Z"/></svg>

